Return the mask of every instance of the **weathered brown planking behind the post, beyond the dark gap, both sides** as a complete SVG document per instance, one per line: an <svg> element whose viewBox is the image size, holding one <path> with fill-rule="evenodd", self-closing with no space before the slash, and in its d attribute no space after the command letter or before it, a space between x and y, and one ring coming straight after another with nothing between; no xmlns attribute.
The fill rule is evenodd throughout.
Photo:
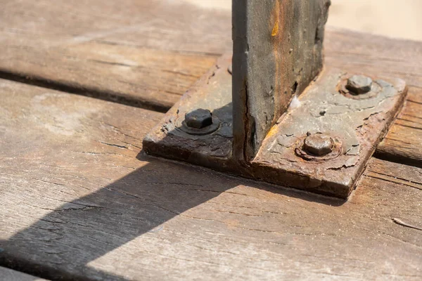
<svg viewBox="0 0 422 281"><path fill-rule="evenodd" d="M0 18L0 77L162 112L231 51L230 11L181 1L6 1ZM407 81L377 156L422 167L422 43L328 28L325 49L328 65Z"/></svg>

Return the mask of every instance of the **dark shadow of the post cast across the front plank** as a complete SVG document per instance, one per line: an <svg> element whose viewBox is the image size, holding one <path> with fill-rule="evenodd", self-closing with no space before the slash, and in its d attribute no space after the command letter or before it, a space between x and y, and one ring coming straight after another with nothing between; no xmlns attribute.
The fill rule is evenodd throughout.
<svg viewBox="0 0 422 281"><path fill-rule="evenodd" d="M63 204L29 228L0 241L1 265L53 280L124 280L89 263L141 235L160 232L166 221L188 216L183 213L235 188L236 183L254 186L252 181L227 181L226 176L207 169L161 161L143 152L138 158L149 164L98 192ZM163 170L168 171L167 176L158 178ZM333 206L343 204L271 185L259 188ZM136 259L136 249L133 251Z"/></svg>

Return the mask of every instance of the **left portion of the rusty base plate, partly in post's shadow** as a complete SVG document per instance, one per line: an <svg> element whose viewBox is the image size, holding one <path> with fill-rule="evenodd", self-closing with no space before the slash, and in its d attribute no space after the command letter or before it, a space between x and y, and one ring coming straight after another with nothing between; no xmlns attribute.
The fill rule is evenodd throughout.
<svg viewBox="0 0 422 281"><path fill-rule="evenodd" d="M217 63L189 89L143 140L151 155L182 160L224 171L229 169L233 147L231 55ZM186 112L203 108L219 120L217 130L195 133L184 128Z"/></svg>

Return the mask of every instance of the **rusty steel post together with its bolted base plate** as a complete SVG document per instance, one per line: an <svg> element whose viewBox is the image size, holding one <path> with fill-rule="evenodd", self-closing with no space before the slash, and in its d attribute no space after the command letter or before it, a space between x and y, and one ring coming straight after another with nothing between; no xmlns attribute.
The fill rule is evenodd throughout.
<svg viewBox="0 0 422 281"><path fill-rule="evenodd" d="M184 94L144 139L146 152L347 198L407 86L321 72L330 4L233 0L233 60L222 55Z"/></svg>

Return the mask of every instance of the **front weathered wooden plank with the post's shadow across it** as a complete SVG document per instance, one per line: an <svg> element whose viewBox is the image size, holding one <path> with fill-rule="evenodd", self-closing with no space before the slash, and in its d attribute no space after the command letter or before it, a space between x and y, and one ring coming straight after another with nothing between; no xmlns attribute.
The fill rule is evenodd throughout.
<svg viewBox="0 0 422 281"><path fill-rule="evenodd" d="M422 169L348 202L140 153L162 114L0 81L0 264L60 280L420 280ZM119 118L116 118L116 117ZM6 223L7 222L7 223Z"/></svg>

